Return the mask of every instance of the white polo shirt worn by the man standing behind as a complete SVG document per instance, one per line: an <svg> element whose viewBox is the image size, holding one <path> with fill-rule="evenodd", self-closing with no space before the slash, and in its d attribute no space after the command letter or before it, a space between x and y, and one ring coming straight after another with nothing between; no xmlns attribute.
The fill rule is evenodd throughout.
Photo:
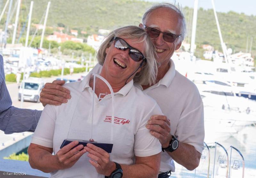
<svg viewBox="0 0 256 178"><path fill-rule="evenodd" d="M175 70L170 60L170 69L155 85L143 90L143 93L156 100L164 115L170 119L171 135L180 142L195 147L202 153L204 149L204 105L196 85ZM97 64L93 72L100 72ZM150 116L148 117L148 119ZM174 161L166 152L162 152L160 172L175 171Z"/></svg>

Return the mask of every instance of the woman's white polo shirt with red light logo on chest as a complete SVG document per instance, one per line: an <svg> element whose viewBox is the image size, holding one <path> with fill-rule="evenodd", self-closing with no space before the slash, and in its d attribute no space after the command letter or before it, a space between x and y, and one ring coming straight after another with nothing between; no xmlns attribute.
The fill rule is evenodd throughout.
<svg viewBox="0 0 256 178"><path fill-rule="evenodd" d="M92 95L94 101L93 136L97 142L110 143L111 95L98 101L89 86L91 75L83 81L65 84L72 98L60 106L46 105L31 143L53 148L56 154L66 138L89 140L92 129ZM127 83L115 93L114 139L110 160L131 165L134 155L146 157L161 152L161 144L146 128L148 118L162 114L156 101ZM51 173L52 177L104 177L96 172L85 153L68 169Z"/></svg>

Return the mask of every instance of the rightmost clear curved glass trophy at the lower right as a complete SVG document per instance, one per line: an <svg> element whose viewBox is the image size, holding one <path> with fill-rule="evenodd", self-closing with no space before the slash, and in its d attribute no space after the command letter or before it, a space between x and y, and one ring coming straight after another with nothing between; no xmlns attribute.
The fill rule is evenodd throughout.
<svg viewBox="0 0 256 178"><path fill-rule="evenodd" d="M228 178L232 177L232 175L244 178L244 157L238 149L230 146Z"/></svg>

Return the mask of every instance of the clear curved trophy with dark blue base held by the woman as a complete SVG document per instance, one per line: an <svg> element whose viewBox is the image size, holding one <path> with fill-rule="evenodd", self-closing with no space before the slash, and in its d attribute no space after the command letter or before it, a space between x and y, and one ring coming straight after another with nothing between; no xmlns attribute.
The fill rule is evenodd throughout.
<svg viewBox="0 0 256 178"><path fill-rule="evenodd" d="M111 103L112 103L112 107L111 107L111 109L112 109L111 110L112 111L112 120L111 120L111 122L112 123L111 123L111 127L110 127L110 132L111 132L110 133L111 134L110 135L110 143L97 142L97 141L94 141L94 139L93 139L93 113L94 113L94 98L95 98L95 96L92 95L92 113L91 113L90 139L89 140L87 140L87 139L84 140L84 139L81 139L81 138L80 139L75 139L74 137L72 139L67 138L67 139L63 140L63 142L62 142L62 144L60 146L60 149L62 147L64 147L64 146L68 145L69 143L73 142L73 141L78 141L79 142L78 145L86 146L88 143L91 143L91 144L93 144L93 145L95 145L97 147L100 147L101 149L105 150L108 153L111 153L111 151L112 151L112 148L113 148L113 135L114 135L114 132L113 132L113 125L114 125L114 103L115 103L115 101L114 101L114 92L113 92L113 89L112 89L111 85L108 83L108 81L105 78L101 77L100 75L98 75L96 73L93 73L92 76L93 76L93 93L95 93L95 78L96 77L101 79L108 86L108 89L109 89L109 91L111 93L111 99L112 99L112 101L111 101ZM101 95L101 93L100 93L100 95ZM99 100L100 100L100 96L99 96ZM72 118L72 120L73 120L73 118ZM69 127L69 130L70 130L70 127ZM68 135L69 135L69 132L68 132Z"/></svg>

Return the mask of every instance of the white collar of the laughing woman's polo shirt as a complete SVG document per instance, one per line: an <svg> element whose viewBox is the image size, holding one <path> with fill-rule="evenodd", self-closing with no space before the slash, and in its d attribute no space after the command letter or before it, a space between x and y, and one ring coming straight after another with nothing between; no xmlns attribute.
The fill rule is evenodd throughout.
<svg viewBox="0 0 256 178"><path fill-rule="evenodd" d="M90 88L89 85L89 81L90 78L92 76L92 71L90 71L84 78L83 82L82 82L82 87L81 87L81 91L84 91L85 88ZM114 93L114 95L116 94L121 94L123 96L127 95L129 93L129 91L132 89L133 87L133 79L128 82L126 85L124 85L118 92Z"/></svg>

